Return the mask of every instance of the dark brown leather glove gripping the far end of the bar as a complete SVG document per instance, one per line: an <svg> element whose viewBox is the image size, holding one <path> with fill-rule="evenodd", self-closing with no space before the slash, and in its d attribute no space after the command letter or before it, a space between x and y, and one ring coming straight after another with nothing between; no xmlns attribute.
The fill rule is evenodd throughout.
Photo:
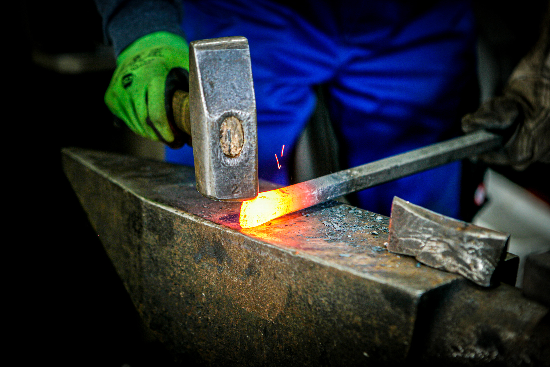
<svg viewBox="0 0 550 367"><path fill-rule="evenodd" d="M540 39L510 75L503 95L462 118L465 133L486 129L503 135L500 150L480 156L487 163L518 170L536 161L550 163L549 20L546 14Z"/></svg>

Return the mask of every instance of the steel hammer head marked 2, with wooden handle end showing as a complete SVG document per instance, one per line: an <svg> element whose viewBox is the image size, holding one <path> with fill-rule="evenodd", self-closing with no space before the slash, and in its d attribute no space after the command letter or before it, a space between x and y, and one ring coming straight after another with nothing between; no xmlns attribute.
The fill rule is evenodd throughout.
<svg viewBox="0 0 550 367"><path fill-rule="evenodd" d="M190 43L189 112L197 190L212 200L255 198L256 100L245 37Z"/></svg>

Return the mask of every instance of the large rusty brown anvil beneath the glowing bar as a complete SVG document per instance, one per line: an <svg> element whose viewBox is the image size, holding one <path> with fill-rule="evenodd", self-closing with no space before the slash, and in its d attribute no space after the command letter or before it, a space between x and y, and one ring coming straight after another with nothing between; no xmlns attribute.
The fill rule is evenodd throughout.
<svg viewBox="0 0 550 367"><path fill-rule="evenodd" d="M75 148L63 167L136 308L179 361L548 357L546 307L507 284L481 288L388 253L387 217L331 201L241 229L240 203L201 196L193 168Z"/></svg>

